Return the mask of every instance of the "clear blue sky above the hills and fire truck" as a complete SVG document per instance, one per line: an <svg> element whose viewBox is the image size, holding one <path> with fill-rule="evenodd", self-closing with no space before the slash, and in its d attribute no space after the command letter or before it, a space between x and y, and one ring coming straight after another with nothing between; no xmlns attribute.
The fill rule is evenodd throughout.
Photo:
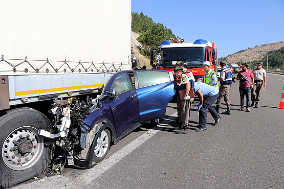
<svg viewBox="0 0 284 189"><path fill-rule="evenodd" d="M219 58L284 41L284 0L132 0L132 12L163 23L186 42L214 42Z"/></svg>

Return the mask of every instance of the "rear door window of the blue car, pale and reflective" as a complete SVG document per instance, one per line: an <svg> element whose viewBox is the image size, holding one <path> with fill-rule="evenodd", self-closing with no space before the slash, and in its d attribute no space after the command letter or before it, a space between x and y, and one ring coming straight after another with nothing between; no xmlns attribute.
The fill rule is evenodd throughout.
<svg viewBox="0 0 284 189"><path fill-rule="evenodd" d="M155 72L154 70L137 72L139 88L156 85L170 81L168 72Z"/></svg>

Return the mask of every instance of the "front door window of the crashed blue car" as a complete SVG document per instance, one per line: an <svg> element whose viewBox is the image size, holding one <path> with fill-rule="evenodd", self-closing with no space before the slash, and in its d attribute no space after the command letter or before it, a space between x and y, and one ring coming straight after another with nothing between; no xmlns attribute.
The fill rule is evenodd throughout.
<svg viewBox="0 0 284 189"><path fill-rule="evenodd" d="M118 75L110 88L115 89L117 95L120 95L123 92L127 92L129 90L132 90L132 84L130 83L127 73L123 73Z"/></svg>

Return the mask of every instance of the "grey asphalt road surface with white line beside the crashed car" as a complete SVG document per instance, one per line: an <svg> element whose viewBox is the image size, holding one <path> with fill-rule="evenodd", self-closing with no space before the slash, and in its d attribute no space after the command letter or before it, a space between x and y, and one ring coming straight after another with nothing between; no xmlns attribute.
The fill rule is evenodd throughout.
<svg viewBox="0 0 284 189"><path fill-rule="evenodd" d="M235 75L236 76L236 75ZM12 188L283 188L284 109L278 109L284 76L267 74L259 109L239 111L238 81L230 91L231 115L207 130L191 107L188 134L174 134L176 103L155 128L143 125L111 147L107 158L89 170L63 169ZM224 101L220 112L226 110Z"/></svg>

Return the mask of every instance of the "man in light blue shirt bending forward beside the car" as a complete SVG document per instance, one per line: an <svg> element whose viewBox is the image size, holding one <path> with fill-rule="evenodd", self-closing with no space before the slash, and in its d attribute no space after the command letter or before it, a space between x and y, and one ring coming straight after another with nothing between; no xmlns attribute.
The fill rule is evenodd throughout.
<svg viewBox="0 0 284 189"><path fill-rule="evenodd" d="M206 130L208 110L215 120L214 125L219 123L221 120L221 116L212 106L215 100L219 97L219 90L216 87L207 85L205 83L194 82L193 92L198 96L200 102L198 105L199 129L196 129L195 131L204 131Z"/></svg>

